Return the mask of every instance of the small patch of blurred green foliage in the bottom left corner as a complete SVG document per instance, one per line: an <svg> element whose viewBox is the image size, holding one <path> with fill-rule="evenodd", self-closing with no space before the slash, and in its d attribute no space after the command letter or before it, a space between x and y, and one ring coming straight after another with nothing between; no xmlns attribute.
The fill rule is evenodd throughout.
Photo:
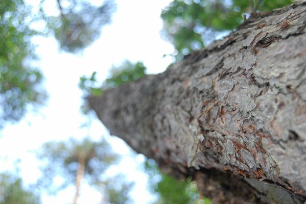
<svg viewBox="0 0 306 204"><path fill-rule="evenodd" d="M40 198L22 186L20 178L8 174L0 174L0 204L38 204Z"/></svg>

